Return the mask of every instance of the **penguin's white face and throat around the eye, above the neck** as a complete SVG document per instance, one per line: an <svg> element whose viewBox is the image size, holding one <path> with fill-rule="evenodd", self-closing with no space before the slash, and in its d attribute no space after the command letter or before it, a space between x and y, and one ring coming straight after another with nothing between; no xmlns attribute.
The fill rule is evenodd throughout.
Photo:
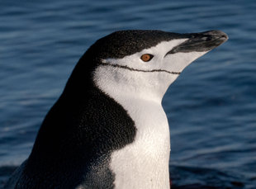
<svg viewBox="0 0 256 189"><path fill-rule="evenodd" d="M122 59L102 59L102 65L95 71L94 80L101 87L106 88L107 90L104 91L110 96L111 92L121 92L124 96L132 94L138 98L161 102L169 85L178 78L178 73L181 73L193 60L206 54L206 52L167 54L186 40L163 41ZM143 54L152 54L154 57L145 62L141 59Z"/></svg>

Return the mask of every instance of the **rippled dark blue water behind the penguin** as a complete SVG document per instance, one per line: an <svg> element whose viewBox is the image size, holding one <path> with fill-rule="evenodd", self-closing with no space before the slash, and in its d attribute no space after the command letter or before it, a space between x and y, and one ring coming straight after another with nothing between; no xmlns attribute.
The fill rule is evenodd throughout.
<svg viewBox="0 0 256 189"><path fill-rule="evenodd" d="M0 1L0 187L89 45L112 31L218 29L169 88L173 188L256 188L256 1Z"/></svg>

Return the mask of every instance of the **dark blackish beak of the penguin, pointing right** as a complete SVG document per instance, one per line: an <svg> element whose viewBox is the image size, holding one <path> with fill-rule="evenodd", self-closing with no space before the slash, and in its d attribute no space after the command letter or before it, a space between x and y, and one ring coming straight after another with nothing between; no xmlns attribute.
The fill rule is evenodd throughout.
<svg viewBox="0 0 256 189"><path fill-rule="evenodd" d="M205 31L201 33L184 34L188 40L168 51L168 54L206 52L228 40L228 35L223 31Z"/></svg>

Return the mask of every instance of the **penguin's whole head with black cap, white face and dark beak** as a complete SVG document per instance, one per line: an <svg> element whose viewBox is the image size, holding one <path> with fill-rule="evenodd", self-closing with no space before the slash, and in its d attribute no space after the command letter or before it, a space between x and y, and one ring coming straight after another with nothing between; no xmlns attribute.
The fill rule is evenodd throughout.
<svg viewBox="0 0 256 189"><path fill-rule="evenodd" d="M84 56L97 64L92 78L104 92L161 101L187 65L227 39L222 31L116 31L97 40Z"/></svg>

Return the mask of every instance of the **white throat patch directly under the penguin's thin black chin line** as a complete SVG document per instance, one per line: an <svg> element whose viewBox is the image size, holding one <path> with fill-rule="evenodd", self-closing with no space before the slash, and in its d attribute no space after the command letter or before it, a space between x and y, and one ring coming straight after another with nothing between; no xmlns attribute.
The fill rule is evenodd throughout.
<svg viewBox="0 0 256 189"><path fill-rule="evenodd" d="M101 64L93 73L94 83L110 97L157 103L162 102L164 93L177 77L178 74L133 72L112 64Z"/></svg>

